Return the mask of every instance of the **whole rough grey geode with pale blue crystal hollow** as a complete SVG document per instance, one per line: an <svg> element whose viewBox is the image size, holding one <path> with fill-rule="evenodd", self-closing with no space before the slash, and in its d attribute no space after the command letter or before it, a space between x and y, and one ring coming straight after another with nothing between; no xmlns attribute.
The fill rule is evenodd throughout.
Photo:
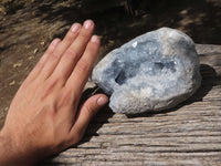
<svg viewBox="0 0 221 166"><path fill-rule="evenodd" d="M193 41L169 28L109 52L93 70L92 80L110 95L109 107L125 114L170 108L201 84Z"/></svg>

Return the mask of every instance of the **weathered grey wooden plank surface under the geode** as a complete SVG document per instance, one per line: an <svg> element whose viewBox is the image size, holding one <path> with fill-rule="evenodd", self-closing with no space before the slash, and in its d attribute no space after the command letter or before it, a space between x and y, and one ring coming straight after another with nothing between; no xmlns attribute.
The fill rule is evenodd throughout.
<svg viewBox="0 0 221 166"><path fill-rule="evenodd" d="M104 108L81 144L42 165L221 165L221 46L197 50L202 85L191 98L136 116Z"/></svg>

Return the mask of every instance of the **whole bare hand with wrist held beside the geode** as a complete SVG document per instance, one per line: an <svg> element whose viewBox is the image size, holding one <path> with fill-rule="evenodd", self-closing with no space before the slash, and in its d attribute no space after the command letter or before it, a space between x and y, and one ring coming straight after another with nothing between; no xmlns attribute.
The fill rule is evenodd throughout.
<svg viewBox="0 0 221 166"><path fill-rule="evenodd" d="M74 23L62 41L52 41L22 83L0 131L0 165L35 165L78 143L108 102L97 94L78 106L99 49L93 30L92 20Z"/></svg>

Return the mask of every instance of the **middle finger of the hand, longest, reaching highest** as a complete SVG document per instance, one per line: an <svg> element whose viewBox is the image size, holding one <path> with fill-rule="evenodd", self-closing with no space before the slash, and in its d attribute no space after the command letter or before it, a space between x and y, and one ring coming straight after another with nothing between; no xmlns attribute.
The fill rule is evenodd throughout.
<svg viewBox="0 0 221 166"><path fill-rule="evenodd" d="M53 73L55 77L64 77L63 80L66 82L75 64L83 54L92 37L93 30L94 22L92 20L85 21L78 37L73 42L73 44L66 50L59 65L56 66Z"/></svg>

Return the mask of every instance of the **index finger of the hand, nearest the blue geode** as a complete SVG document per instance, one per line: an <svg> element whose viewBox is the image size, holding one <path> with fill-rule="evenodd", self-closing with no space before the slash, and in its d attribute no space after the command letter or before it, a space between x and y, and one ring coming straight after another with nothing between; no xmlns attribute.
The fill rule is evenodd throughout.
<svg viewBox="0 0 221 166"><path fill-rule="evenodd" d="M74 71L66 82L66 87L70 89L70 91L74 89L75 95L80 95L84 89L96 60L99 50L99 38L97 35L93 35L83 56L77 62Z"/></svg>

